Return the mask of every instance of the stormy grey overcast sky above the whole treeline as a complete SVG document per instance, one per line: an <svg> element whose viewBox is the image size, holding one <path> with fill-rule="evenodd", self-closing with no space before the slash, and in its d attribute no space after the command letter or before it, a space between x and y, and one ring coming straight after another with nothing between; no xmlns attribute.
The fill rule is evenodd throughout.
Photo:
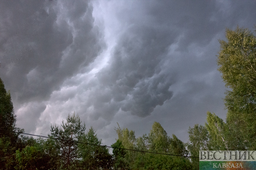
<svg viewBox="0 0 256 170"><path fill-rule="evenodd" d="M75 112L108 146L117 122L187 142L207 111L226 118L218 40L255 24L255 0L2 0L0 77L26 133Z"/></svg>

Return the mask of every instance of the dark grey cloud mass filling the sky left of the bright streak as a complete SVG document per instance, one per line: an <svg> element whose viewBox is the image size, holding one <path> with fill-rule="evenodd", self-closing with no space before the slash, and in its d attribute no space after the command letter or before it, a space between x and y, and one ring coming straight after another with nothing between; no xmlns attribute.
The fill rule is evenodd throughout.
<svg viewBox="0 0 256 170"><path fill-rule="evenodd" d="M19 102L49 98L98 56L92 12L87 1L1 2L1 76Z"/></svg>

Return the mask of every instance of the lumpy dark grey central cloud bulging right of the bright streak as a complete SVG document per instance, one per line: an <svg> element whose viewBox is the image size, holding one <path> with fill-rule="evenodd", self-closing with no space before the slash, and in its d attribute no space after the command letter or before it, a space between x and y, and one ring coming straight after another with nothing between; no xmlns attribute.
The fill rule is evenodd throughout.
<svg viewBox="0 0 256 170"><path fill-rule="evenodd" d="M112 91L109 100L140 117L150 115L156 106L169 100L174 80L164 72L162 62L173 41L170 34L156 28L138 25L126 30L108 66L96 75L100 84Z"/></svg>

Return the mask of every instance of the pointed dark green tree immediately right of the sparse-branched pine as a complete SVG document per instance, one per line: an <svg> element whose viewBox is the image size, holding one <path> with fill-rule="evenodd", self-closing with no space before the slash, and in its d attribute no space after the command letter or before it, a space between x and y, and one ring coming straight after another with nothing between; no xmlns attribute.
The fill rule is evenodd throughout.
<svg viewBox="0 0 256 170"><path fill-rule="evenodd" d="M99 140L93 127L81 136L80 142L89 144L78 144L78 152L81 158L82 167L85 169L111 169L112 156L109 154L106 147L100 147L102 140ZM94 145L93 145L94 144Z"/></svg>

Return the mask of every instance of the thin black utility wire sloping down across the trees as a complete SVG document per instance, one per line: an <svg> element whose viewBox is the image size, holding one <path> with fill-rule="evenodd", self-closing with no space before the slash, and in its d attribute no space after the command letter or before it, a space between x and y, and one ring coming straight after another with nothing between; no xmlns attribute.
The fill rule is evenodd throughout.
<svg viewBox="0 0 256 170"><path fill-rule="evenodd" d="M0 130L4 130L4 129L0 129ZM5 130L8 132L13 132L10 130ZM65 140L65 139L61 139L61 138L52 138L52 137L48 137L48 136L40 136L40 135L34 135L34 134L27 134L27 133L23 133L23 132L13 132L13 133L17 133L17 134L26 134L26 135L30 135L30 136L37 136L37 137L42 137L42 138L49 138L49 139L55 139L55 140L63 140L66 142L74 142L74 143L81 143L81 144L90 144L90 145L94 145L94 146L98 146L98 147L108 147L108 148L113 148L113 149L123 149L123 150L127 150L127 151L136 151L136 152L144 152L144 153L154 153L154 154L160 154L160 155L171 155L171 156L179 156L179 157L193 157L193 158L199 158L199 157L194 157L194 156L184 156L184 155L173 155L173 154L168 154L168 153L157 153L157 152L149 152L149 151L139 151L139 150L135 150L135 149L125 149L125 148L117 148L117 147L109 147L106 145L99 145L99 144L93 144L93 143L87 143L87 142L79 142L79 141L74 141L74 140Z"/></svg>

